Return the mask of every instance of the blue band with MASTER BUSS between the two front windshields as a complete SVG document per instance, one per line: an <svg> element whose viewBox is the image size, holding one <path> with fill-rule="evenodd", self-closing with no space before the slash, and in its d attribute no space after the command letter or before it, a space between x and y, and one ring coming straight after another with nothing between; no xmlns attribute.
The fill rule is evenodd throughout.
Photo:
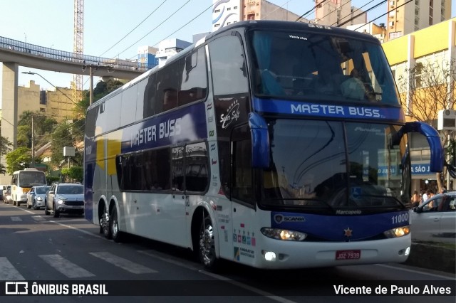
<svg viewBox="0 0 456 303"><path fill-rule="evenodd" d="M351 119L404 119L400 107L373 107L351 105L325 105L311 102L296 102L279 99L261 99L254 97L253 107L257 112L276 114L306 115L311 117L334 117Z"/></svg>

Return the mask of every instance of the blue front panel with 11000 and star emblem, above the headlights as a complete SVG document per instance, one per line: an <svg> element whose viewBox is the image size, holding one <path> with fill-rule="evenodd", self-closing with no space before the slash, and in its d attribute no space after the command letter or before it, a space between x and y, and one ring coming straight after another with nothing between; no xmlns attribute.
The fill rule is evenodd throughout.
<svg viewBox="0 0 456 303"><path fill-rule="evenodd" d="M374 238L386 230L409 224L408 211L351 216L271 212L272 228L301 231L328 241Z"/></svg>

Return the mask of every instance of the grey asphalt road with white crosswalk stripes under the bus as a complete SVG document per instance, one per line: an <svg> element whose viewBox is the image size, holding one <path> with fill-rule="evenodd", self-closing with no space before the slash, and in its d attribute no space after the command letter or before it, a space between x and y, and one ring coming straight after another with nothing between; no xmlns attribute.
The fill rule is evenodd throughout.
<svg viewBox="0 0 456 303"><path fill-rule="evenodd" d="M6 295L0 302L455 302L435 296L455 292L455 275L444 272L398 264L268 271L224 262L214 274L188 250L133 236L114 243L98 229L78 216L53 218L0 203L0 281L28 282L29 294L33 282L33 294L86 287L76 286L75 295ZM87 295L88 286L93 292L98 285L108 294Z"/></svg>

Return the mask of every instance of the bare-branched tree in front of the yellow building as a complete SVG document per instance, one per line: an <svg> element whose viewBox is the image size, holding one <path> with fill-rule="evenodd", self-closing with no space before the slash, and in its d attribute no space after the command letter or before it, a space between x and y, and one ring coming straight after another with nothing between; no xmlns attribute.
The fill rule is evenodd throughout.
<svg viewBox="0 0 456 303"><path fill-rule="evenodd" d="M406 114L416 121L425 122L437 128L439 110L452 110L456 107L455 60L416 63L414 68L405 70L405 76L399 78L399 84L401 91L404 92L400 95L401 104ZM450 132L446 130L441 132L442 146L445 147ZM436 179L438 187L444 187L440 173L437 173Z"/></svg>

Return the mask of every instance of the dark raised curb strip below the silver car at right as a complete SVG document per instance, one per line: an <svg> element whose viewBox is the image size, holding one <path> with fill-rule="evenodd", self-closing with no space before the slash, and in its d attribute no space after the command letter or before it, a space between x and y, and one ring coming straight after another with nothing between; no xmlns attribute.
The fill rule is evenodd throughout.
<svg viewBox="0 0 456 303"><path fill-rule="evenodd" d="M456 273L456 250L425 243L412 243L410 256L403 264L430 270Z"/></svg>

